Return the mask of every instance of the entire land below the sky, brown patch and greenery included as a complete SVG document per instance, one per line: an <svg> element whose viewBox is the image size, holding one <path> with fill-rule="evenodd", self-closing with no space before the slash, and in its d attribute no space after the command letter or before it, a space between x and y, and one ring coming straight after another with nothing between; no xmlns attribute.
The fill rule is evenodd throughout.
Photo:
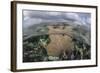
<svg viewBox="0 0 100 73"><path fill-rule="evenodd" d="M41 23L23 35L24 62L90 59L90 29L84 25Z"/></svg>

